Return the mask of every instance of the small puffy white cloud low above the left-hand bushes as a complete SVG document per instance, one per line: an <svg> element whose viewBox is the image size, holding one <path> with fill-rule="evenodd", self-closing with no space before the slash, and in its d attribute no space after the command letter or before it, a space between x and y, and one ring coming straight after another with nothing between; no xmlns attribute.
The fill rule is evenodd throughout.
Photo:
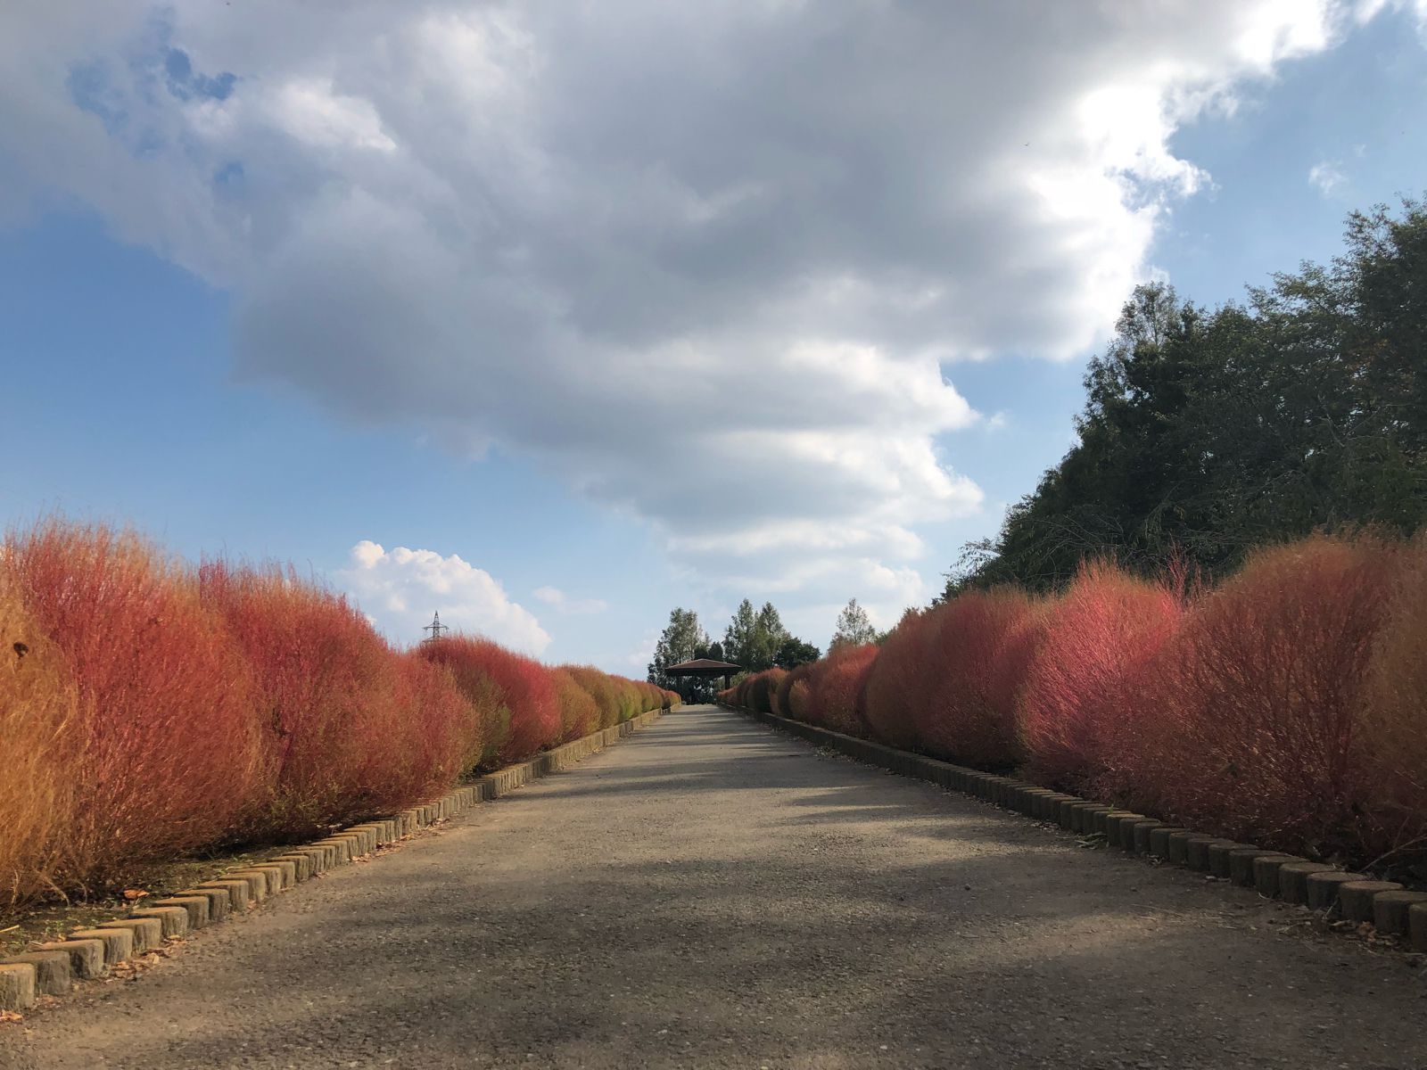
<svg viewBox="0 0 1427 1070"><path fill-rule="evenodd" d="M351 549L351 568L337 574L377 625L398 642L421 638L435 612L458 632L484 635L531 655L544 653L549 633L512 602L489 572L458 555L430 549L385 549L362 539Z"/></svg>

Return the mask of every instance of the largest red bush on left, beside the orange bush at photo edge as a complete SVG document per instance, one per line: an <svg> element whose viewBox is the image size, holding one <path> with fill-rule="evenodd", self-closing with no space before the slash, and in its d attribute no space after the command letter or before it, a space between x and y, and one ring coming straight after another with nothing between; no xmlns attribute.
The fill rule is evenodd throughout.
<svg viewBox="0 0 1427 1070"><path fill-rule="evenodd" d="M3 556L76 688L60 883L107 886L231 835L258 773L255 696L193 576L101 525L43 522Z"/></svg>

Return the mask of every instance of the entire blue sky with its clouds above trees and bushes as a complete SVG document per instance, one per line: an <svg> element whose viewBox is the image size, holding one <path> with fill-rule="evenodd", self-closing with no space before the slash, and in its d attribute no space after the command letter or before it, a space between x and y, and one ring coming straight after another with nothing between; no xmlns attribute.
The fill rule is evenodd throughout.
<svg viewBox="0 0 1427 1070"><path fill-rule="evenodd" d="M9 0L0 521L642 669L925 602L1200 302L1427 190L1427 0Z"/></svg>

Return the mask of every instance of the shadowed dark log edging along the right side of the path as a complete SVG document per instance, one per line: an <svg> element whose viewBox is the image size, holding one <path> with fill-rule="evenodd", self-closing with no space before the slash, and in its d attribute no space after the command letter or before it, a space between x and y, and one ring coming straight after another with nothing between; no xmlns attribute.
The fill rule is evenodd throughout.
<svg viewBox="0 0 1427 1070"><path fill-rule="evenodd" d="M1414 950L1427 952L1427 893L1404 892L1401 885L1371 880L1364 873L1344 873L1337 866L1309 862L1296 855L1204 836L1142 813L1055 792L1012 776L996 776L910 750L898 750L776 713L726 702L719 705L859 762L965 792L1027 817L1052 822L1069 832L1103 835L1107 846L1129 855L1157 857L1164 863L1253 887L1270 899L1304 905L1350 922L1371 923L1381 933L1404 937Z"/></svg>

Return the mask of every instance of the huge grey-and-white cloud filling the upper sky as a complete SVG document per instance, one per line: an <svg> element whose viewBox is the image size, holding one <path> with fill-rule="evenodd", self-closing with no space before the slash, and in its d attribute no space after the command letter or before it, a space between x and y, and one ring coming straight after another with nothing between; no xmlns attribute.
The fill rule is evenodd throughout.
<svg viewBox="0 0 1427 1070"><path fill-rule="evenodd" d="M809 584L979 508L943 367L1096 345L1209 181L1174 131L1376 13L68 9L4 16L3 211L86 204L230 290L247 377L532 457L705 579Z"/></svg>

